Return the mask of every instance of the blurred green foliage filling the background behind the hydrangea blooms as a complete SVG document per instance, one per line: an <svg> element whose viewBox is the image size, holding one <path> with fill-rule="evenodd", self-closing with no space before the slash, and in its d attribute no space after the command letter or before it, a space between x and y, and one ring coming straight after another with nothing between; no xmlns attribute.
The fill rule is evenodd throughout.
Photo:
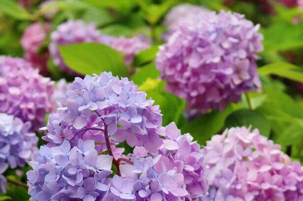
<svg viewBox="0 0 303 201"><path fill-rule="evenodd" d="M251 125L281 144L293 159L303 162L302 86L299 90L299 83L303 83L303 10L298 6L285 7L276 1L262 4L259 0L58 0L39 8L41 0L32 2L21 7L17 0L0 0L0 55L23 57L20 38L24 29L33 22L45 21L43 15L54 8L58 12L51 21L52 29L67 19L82 19L96 23L98 29L109 35L129 37L143 33L152 38L153 46L135 57L131 69L125 67L120 53L105 45L73 44L61 47L60 51L65 62L78 73L112 71L114 75L128 76L160 105L164 125L175 121L183 133L191 133L202 145L225 128ZM240 103L230 104L223 112L209 111L191 121L184 117L184 100L165 92L165 82L158 80L160 73L154 62L167 29L162 21L171 7L181 3L215 11L232 10L261 24L265 47L258 61L262 91L243 95ZM60 72L52 60L48 68L53 80L73 79ZM24 175L18 179L24 180ZM11 190L22 194L23 189ZM13 194L7 195L18 197L14 201L27 199ZM4 200L0 197L0 201Z"/></svg>

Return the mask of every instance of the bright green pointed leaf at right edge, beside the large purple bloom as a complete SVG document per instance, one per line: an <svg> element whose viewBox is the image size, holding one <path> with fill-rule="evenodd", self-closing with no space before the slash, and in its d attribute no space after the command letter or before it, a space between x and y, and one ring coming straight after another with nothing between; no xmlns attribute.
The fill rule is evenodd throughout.
<svg viewBox="0 0 303 201"><path fill-rule="evenodd" d="M277 75L297 82L303 82L303 68L286 62L271 63L258 69L260 75Z"/></svg>

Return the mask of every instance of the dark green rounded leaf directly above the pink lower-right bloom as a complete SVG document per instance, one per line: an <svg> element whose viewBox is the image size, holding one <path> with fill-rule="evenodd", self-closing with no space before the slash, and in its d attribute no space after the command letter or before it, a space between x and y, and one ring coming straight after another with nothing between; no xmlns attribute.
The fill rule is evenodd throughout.
<svg viewBox="0 0 303 201"><path fill-rule="evenodd" d="M252 129L258 128L260 134L269 137L270 124L265 115L256 110L241 109L230 114L225 120L225 127L251 126Z"/></svg>

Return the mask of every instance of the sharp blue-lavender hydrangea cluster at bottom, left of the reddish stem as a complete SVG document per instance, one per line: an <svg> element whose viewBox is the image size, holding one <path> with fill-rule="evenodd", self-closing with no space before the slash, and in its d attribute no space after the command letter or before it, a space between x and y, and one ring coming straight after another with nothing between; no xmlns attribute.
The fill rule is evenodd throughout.
<svg viewBox="0 0 303 201"><path fill-rule="evenodd" d="M68 141L41 146L32 159L27 177L33 201L95 201L109 189L113 157L98 155L93 140L80 139L72 148Z"/></svg>

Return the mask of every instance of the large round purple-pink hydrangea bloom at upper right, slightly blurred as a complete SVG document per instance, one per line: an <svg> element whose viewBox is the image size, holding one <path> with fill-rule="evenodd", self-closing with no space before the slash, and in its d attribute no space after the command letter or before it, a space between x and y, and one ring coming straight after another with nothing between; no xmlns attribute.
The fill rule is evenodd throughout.
<svg viewBox="0 0 303 201"><path fill-rule="evenodd" d="M223 110L241 93L261 86L256 55L263 36L238 13L180 26L160 48L156 65L166 89L186 99L189 116Z"/></svg>

